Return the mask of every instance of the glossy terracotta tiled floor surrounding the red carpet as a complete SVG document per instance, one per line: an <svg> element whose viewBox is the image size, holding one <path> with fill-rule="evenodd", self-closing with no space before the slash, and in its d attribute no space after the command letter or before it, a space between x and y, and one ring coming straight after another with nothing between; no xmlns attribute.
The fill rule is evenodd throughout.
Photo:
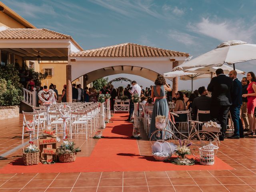
<svg viewBox="0 0 256 192"><path fill-rule="evenodd" d="M20 139L22 118L0 120L1 154L26 142ZM138 140L141 155L149 155L150 144ZM75 139L79 156L90 156L97 140ZM21 156L18 150L0 158L0 168ZM217 156L235 170L160 172L82 172L0 174L0 192L90 191L90 192L251 192L256 191L256 137L225 139ZM50 165L49 165L50 166Z"/></svg>

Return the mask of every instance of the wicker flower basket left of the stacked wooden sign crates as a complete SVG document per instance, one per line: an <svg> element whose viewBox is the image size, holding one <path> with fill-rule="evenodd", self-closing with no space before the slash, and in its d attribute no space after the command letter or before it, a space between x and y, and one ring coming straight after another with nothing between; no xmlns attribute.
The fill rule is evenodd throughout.
<svg viewBox="0 0 256 192"><path fill-rule="evenodd" d="M26 148L22 149L24 165L36 165L39 163L39 149L38 146L30 143Z"/></svg>

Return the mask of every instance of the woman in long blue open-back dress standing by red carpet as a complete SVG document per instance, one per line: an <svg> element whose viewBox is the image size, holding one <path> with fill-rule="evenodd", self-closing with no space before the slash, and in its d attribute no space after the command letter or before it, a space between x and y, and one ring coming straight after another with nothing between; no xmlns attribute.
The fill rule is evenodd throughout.
<svg viewBox="0 0 256 192"><path fill-rule="evenodd" d="M156 100L154 102L154 108L152 112L150 130L148 134L149 138L151 134L156 130L155 118L158 115L166 116L167 124L169 124L169 125L166 124L167 125L166 129L171 130L170 122L168 120L169 107L168 107L168 102L166 100L165 91L172 91L172 89L168 84L166 84L166 80L164 76L160 75L156 79L155 85L152 87L152 91L151 91L151 98L156 98ZM162 134L162 139L166 139L170 137L171 135L168 132L166 132L165 135Z"/></svg>

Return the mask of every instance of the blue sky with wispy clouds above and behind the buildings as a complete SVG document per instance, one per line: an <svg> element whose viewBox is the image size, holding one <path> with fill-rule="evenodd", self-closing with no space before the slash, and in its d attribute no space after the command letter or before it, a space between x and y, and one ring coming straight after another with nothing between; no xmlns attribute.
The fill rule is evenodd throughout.
<svg viewBox="0 0 256 192"><path fill-rule="evenodd" d="M199 56L221 42L256 43L254 0L2 0L38 28L71 35L84 49L131 42ZM237 64L254 71L255 61ZM168 72L168 70L166 71ZM152 82L132 75L143 86ZM196 80L194 87L208 84ZM179 81L180 89L191 82Z"/></svg>

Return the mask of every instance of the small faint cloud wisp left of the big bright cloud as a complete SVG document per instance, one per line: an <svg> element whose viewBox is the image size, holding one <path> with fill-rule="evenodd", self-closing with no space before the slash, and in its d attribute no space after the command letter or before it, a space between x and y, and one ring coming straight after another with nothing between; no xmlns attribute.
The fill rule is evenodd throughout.
<svg viewBox="0 0 256 192"><path fill-rule="evenodd" d="M190 34L183 33L183 32L180 32L180 31L169 30L167 36L168 36L168 38L173 39L173 40L175 40L177 42L180 42L182 44L185 44L185 45L198 44L196 42L196 37L195 36L192 36Z"/></svg>

